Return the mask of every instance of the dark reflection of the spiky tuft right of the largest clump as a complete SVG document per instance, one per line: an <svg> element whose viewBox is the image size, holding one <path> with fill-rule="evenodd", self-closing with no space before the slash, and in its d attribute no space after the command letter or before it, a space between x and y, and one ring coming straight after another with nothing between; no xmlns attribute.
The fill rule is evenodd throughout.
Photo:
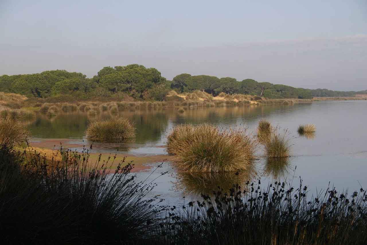
<svg viewBox="0 0 367 245"><path fill-rule="evenodd" d="M264 175L274 180L284 180L292 169L290 157L266 158Z"/></svg>

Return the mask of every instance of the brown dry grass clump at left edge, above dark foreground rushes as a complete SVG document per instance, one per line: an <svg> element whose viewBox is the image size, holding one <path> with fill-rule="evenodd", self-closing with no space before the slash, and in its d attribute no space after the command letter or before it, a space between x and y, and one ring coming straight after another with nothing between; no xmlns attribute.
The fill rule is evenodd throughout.
<svg viewBox="0 0 367 245"><path fill-rule="evenodd" d="M25 126L11 118L0 118L0 145L21 145L29 136Z"/></svg>

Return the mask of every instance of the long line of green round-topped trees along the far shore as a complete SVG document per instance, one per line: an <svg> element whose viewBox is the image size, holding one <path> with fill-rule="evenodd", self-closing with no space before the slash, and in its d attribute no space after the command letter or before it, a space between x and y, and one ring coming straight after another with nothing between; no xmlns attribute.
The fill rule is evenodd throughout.
<svg viewBox="0 0 367 245"><path fill-rule="evenodd" d="M143 65L103 67L93 78L80 72L65 70L44 71L37 74L2 75L0 91L20 93L28 97L46 98L72 95L83 99L126 93L135 99L163 100L170 90L178 93L201 90L217 96L220 93L241 93L271 99L354 96L354 91L304 89L287 85L257 82L254 79L237 81L235 78L217 78L208 75L180 74L167 80L156 68Z"/></svg>

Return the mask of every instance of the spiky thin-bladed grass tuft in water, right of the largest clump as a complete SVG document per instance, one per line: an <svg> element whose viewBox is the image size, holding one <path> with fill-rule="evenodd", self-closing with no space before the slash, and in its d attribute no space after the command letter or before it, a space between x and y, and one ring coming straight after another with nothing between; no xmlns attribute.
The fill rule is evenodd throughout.
<svg viewBox="0 0 367 245"><path fill-rule="evenodd" d="M279 129L276 129L270 134L270 137L263 141L267 157L278 158L290 156L291 144L287 133L287 130L285 130L284 134L281 134Z"/></svg>

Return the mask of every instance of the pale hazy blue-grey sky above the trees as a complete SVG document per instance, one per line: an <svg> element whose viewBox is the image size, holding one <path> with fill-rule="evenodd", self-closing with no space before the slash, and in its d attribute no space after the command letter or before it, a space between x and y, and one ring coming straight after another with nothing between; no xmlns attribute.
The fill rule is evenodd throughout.
<svg viewBox="0 0 367 245"><path fill-rule="evenodd" d="M0 0L0 75L175 75L367 89L367 0Z"/></svg>

